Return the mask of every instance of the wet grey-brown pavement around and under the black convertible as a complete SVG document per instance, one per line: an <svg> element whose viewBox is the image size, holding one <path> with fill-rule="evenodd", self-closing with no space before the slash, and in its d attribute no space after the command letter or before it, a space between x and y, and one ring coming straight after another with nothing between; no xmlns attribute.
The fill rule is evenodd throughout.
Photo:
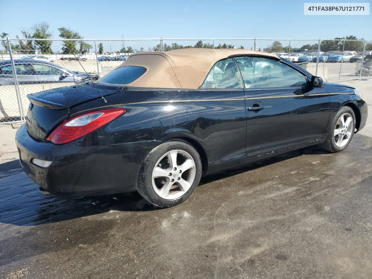
<svg viewBox="0 0 372 279"><path fill-rule="evenodd" d="M349 81L372 104L372 81ZM202 179L181 205L42 196L0 127L0 278L372 278L372 106L341 153Z"/></svg>

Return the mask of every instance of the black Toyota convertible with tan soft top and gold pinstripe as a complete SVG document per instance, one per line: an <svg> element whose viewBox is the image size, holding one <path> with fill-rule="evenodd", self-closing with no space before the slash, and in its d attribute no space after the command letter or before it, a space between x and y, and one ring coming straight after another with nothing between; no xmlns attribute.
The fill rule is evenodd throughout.
<svg viewBox="0 0 372 279"><path fill-rule="evenodd" d="M43 192L137 190L160 207L204 174L315 144L339 152L367 119L353 87L245 49L141 52L97 82L28 98L16 142Z"/></svg>

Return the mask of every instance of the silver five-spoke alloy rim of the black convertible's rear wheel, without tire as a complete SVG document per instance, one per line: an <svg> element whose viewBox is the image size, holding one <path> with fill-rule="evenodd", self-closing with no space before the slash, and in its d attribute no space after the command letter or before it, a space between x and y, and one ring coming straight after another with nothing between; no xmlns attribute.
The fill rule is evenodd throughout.
<svg viewBox="0 0 372 279"><path fill-rule="evenodd" d="M155 193L163 199L183 196L195 180L195 161L183 150L165 153L155 164L151 182Z"/></svg>

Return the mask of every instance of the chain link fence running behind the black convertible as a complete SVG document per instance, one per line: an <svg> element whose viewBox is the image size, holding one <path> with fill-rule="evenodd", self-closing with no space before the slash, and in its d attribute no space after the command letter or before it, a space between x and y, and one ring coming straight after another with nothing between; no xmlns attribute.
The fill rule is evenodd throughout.
<svg viewBox="0 0 372 279"><path fill-rule="evenodd" d="M180 48L271 52L325 81L372 76L372 41L328 39L1 39L0 123L24 122L27 94L81 84L109 73L131 54Z"/></svg>

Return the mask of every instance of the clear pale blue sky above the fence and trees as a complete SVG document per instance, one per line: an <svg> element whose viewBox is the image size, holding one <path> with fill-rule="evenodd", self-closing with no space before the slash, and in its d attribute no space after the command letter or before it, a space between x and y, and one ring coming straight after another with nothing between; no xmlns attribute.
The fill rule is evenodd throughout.
<svg viewBox="0 0 372 279"><path fill-rule="evenodd" d="M84 38L335 38L372 40L372 16L305 16L304 1L0 0L0 32L11 38L36 22ZM306 1L311 2L311 1ZM327 1L334 2L334 1Z"/></svg>

